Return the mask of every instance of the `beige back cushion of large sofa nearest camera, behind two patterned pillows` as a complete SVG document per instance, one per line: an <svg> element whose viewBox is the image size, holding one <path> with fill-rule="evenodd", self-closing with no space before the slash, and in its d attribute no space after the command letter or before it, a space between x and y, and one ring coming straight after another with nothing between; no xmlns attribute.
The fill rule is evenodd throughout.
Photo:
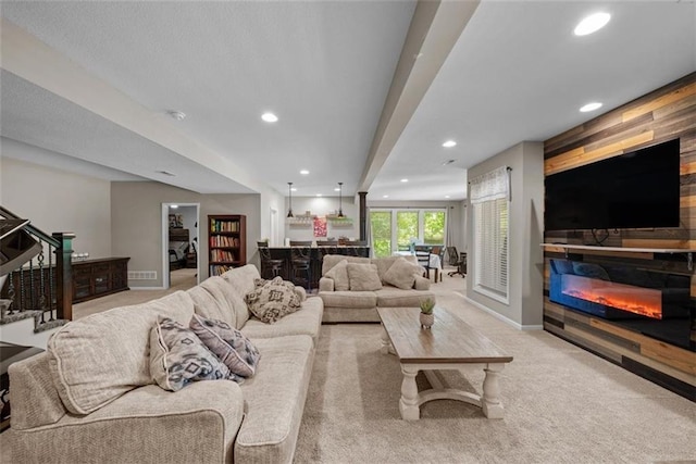
<svg viewBox="0 0 696 464"><path fill-rule="evenodd" d="M49 339L47 352L53 385L65 409L89 414L138 386L152 384L150 330L158 315L188 324L192 314L190 296L176 291L61 327Z"/></svg>

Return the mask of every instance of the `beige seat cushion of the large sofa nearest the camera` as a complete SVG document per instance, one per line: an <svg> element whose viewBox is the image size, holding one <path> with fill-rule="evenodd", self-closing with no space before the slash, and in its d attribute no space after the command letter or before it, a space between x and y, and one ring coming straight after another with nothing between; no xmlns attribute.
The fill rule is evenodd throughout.
<svg viewBox="0 0 696 464"><path fill-rule="evenodd" d="M236 463L290 463L312 372L307 336L254 339L263 362L240 387L247 413L235 440Z"/></svg>

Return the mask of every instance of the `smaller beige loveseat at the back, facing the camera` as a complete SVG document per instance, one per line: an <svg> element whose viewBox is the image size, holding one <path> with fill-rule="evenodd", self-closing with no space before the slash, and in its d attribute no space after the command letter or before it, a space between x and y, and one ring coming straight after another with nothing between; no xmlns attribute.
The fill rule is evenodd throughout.
<svg viewBox="0 0 696 464"><path fill-rule="evenodd" d="M372 264L376 276L366 285L364 279L358 279L360 289L356 289L351 285L356 279L348 275L351 264ZM393 267L395 264L396 267ZM340 267L345 267L346 272L338 271ZM366 275L364 267L353 268L357 277ZM327 254L323 259L322 277L319 280L319 297L324 302L323 322L380 322L378 306L409 308L419 306L421 301L426 299L435 301L435 294L430 291L431 280L423 277L423 272L415 256L370 259ZM400 288L394 283L399 284Z"/></svg>

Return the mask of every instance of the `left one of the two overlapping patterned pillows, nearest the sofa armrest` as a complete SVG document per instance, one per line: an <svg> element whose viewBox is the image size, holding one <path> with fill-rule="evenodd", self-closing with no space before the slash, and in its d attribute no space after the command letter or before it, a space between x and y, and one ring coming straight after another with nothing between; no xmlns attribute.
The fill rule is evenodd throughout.
<svg viewBox="0 0 696 464"><path fill-rule="evenodd" d="M192 330L162 316L150 330L150 375L157 385L171 391L195 380L240 379Z"/></svg>

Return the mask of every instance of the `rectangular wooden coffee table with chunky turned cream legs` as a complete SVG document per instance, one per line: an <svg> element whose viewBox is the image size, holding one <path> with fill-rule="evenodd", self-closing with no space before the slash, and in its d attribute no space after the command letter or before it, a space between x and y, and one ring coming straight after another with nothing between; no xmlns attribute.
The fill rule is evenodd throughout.
<svg viewBox="0 0 696 464"><path fill-rule="evenodd" d="M474 404L488 418L502 418L498 375L512 356L504 353L488 338L444 308L435 308L435 324L422 329L418 308L377 308L384 333L383 353L399 358L403 381L399 411L406 421L420 418L421 404L433 400L458 400ZM460 371L469 364L483 364L486 376L483 394L444 388L434 371ZM415 375L423 371L431 386L419 393Z"/></svg>

